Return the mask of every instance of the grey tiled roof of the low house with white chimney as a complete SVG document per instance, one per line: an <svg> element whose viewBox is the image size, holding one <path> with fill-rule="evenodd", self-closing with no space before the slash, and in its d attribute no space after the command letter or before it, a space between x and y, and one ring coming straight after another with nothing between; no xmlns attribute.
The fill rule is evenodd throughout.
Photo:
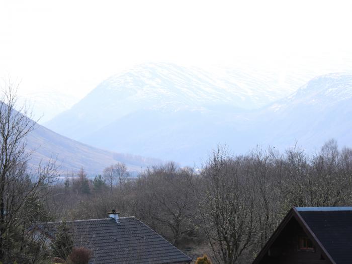
<svg viewBox="0 0 352 264"><path fill-rule="evenodd" d="M90 263L185 263L192 259L135 217L67 221L75 246L93 250ZM39 223L55 237L61 222Z"/></svg>

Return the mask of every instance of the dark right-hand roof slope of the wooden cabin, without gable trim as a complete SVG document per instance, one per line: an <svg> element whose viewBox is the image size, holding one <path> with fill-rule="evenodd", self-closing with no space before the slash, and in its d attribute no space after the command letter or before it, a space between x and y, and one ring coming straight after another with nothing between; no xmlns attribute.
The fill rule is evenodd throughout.
<svg viewBox="0 0 352 264"><path fill-rule="evenodd" d="M337 264L352 263L352 209L347 207L304 211L303 220Z"/></svg>

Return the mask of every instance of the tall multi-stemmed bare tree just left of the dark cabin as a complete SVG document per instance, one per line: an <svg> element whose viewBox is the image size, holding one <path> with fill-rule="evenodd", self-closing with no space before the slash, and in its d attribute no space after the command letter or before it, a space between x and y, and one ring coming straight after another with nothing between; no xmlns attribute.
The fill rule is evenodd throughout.
<svg viewBox="0 0 352 264"><path fill-rule="evenodd" d="M246 179L241 177L240 161L219 147L201 173L199 214L218 263L240 262L252 243L253 198Z"/></svg>

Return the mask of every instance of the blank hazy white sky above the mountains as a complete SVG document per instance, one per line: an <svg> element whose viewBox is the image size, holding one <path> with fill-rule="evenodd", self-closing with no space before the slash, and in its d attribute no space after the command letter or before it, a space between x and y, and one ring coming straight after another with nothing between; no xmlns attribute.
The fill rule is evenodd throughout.
<svg viewBox="0 0 352 264"><path fill-rule="evenodd" d="M0 77L82 97L136 63L348 69L352 1L0 0Z"/></svg>

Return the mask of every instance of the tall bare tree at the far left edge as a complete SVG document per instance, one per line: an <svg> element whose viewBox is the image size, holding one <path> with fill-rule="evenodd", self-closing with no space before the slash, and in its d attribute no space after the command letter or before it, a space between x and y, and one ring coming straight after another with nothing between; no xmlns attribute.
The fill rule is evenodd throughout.
<svg viewBox="0 0 352 264"><path fill-rule="evenodd" d="M26 136L36 126L23 107L15 109L17 87L8 84L0 99L0 261L25 254L25 229L41 217L41 199L56 181L56 165L50 161L28 170L31 152Z"/></svg>

